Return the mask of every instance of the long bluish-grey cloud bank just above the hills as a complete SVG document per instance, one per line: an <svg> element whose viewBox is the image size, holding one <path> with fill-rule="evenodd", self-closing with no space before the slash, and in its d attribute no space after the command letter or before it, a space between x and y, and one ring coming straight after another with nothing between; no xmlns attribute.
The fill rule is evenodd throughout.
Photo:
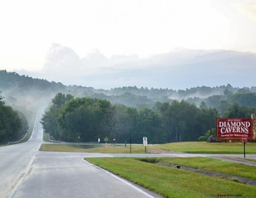
<svg viewBox="0 0 256 198"><path fill-rule="evenodd" d="M149 58L113 55L108 59L94 50L80 58L71 48L53 44L45 68L37 77L96 88L136 85L180 89L227 83L252 86L255 72L253 53L179 49Z"/></svg>

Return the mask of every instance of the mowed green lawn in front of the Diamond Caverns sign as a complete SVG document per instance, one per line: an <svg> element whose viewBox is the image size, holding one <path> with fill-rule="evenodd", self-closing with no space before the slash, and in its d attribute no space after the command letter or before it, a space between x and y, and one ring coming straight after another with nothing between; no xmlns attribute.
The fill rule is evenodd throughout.
<svg viewBox="0 0 256 198"><path fill-rule="evenodd" d="M154 146L176 152L208 153L208 154L243 154L244 147L240 143L207 143L207 142L175 142ZM245 145L246 154L256 154L256 143L249 142Z"/></svg>

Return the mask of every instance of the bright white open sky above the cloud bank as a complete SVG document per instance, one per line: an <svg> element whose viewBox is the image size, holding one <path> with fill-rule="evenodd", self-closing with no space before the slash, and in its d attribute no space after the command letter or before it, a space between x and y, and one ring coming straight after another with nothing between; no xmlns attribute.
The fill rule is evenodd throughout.
<svg viewBox="0 0 256 198"><path fill-rule="evenodd" d="M176 48L256 53L255 0L0 1L0 69L40 71L53 43L80 59ZM89 55L88 55L89 54Z"/></svg>

